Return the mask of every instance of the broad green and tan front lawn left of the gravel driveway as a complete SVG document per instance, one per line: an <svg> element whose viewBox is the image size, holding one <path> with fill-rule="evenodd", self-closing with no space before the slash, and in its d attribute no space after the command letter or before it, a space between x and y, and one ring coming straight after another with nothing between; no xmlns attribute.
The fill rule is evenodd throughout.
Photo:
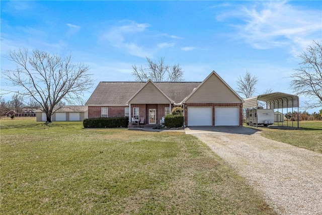
<svg viewBox="0 0 322 215"><path fill-rule="evenodd" d="M275 214L191 135L0 123L1 214Z"/></svg>

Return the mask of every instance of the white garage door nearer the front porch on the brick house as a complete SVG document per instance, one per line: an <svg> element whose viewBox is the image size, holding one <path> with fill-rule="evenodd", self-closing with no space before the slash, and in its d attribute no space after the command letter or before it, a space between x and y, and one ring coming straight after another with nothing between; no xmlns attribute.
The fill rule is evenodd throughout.
<svg viewBox="0 0 322 215"><path fill-rule="evenodd" d="M212 107L188 107L188 126L212 125Z"/></svg>

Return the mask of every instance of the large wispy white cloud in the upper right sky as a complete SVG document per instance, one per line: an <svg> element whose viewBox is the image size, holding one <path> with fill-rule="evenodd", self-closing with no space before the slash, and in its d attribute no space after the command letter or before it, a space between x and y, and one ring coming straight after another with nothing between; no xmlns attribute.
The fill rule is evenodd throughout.
<svg viewBox="0 0 322 215"><path fill-rule="evenodd" d="M320 10L298 8L287 2L258 2L221 14L217 21L236 17L243 22L233 25L238 29L236 36L257 49L287 45L292 51L301 50L322 36Z"/></svg>

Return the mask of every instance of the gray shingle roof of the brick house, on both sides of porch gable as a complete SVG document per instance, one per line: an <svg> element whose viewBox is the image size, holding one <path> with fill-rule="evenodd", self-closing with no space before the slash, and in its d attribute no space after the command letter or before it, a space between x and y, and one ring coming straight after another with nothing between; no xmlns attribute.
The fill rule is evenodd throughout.
<svg viewBox="0 0 322 215"><path fill-rule="evenodd" d="M180 103L201 82L153 82L169 98ZM91 105L126 105L126 102L145 85L145 82L100 82L89 100Z"/></svg>

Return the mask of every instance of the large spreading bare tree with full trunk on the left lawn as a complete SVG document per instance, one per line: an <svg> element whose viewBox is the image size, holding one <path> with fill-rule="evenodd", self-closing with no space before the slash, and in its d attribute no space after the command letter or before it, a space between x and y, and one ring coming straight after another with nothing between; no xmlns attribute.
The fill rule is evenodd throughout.
<svg viewBox="0 0 322 215"><path fill-rule="evenodd" d="M24 99L34 99L46 113L47 122L51 122L54 107L60 101L84 103L84 91L93 86L89 67L72 63L70 55L60 57L40 50L29 53L27 49L18 49L9 51L8 59L17 67L2 70L4 79L19 87L19 95Z"/></svg>

